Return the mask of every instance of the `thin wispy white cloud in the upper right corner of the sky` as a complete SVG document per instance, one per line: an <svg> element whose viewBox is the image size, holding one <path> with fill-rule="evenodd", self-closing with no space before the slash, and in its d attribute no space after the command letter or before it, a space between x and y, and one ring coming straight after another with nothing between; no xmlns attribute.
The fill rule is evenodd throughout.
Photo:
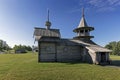
<svg viewBox="0 0 120 80"><path fill-rule="evenodd" d="M120 6L120 0L80 0L80 5L93 7L97 11L113 11Z"/></svg>

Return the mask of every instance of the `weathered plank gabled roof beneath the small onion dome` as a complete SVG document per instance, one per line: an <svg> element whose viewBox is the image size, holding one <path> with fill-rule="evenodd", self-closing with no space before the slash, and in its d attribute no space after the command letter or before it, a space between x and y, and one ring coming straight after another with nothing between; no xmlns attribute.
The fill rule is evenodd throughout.
<svg viewBox="0 0 120 80"><path fill-rule="evenodd" d="M36 28L34 30L35 40L39 40L41 37L58 37L60 38L59 29L46 29L46 28Z"/></svg>

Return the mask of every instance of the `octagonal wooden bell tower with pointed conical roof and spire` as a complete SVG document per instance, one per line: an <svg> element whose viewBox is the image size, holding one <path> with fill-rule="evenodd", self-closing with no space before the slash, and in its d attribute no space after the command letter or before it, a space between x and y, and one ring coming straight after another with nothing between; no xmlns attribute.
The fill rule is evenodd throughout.
<svg viewBox="0 0 120 80"><path fill-rule="evenodd" d="M74 39L80 39L82 41L89 41L94 36L90 35L90 31L94 30L94 27L88 26L84 16L84 8L82 9L82 18L76 29L73 32L77 33Z"/></svg>

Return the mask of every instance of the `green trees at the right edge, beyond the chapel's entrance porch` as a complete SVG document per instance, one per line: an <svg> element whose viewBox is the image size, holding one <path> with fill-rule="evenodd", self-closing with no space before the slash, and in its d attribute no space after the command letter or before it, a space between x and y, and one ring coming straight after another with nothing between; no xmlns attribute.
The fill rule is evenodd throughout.
<svg viewBox="0 0 120 80"><path fill-rule="evenodd" d="M112 41L105 45L105 48L112 50L112 55L120 55L120 41Z"/></svg>

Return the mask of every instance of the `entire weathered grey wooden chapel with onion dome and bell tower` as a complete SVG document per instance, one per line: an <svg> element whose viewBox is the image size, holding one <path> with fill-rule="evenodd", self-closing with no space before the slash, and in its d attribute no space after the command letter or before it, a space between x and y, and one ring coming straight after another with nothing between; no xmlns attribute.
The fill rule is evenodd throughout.
<svg viewBox="0 0 120 80"><path fill-rule="evenodd" d="M88 62L94 64L109 63L111 50L94 43L90 32L94 27L88 26L84 9L82 18L77 28L73 32L77 36L73 39L61 38L59 29L52 29L48 17L45 23L46 28L34 28L35 41L38 41L38 61L39 62Z"/></svg>

